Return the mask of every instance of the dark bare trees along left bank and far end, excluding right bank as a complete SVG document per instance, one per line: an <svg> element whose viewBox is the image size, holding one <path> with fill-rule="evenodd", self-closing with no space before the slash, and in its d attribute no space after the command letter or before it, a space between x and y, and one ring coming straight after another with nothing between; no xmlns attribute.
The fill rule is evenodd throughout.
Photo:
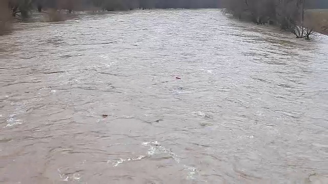
<svg viewBox="0 0 328 184"><path fill-rule="evenodd" d="M49 21L63 18L60 10L122 11L133 9L220 8L221 0L0 0L0 35L11 28L11 20L27 19L33 11L47 11ZM12 18L13 17L13 18Z"/></svg>

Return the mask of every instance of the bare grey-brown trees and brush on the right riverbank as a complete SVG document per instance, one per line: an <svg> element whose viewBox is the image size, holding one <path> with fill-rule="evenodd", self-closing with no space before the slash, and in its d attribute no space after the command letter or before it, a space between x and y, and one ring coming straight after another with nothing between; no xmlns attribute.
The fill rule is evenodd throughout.
<svg viewBox="0 0 328 184"><path fill-rule="evenodd" d="M328 1L325 0L325 3ZM320 0L223 0L223 7L239 19L256 24L277 25L297 38L310 39L314 20L305 13L308 8L321 6ZM327 3L328 4L328 3Z"/></svg>

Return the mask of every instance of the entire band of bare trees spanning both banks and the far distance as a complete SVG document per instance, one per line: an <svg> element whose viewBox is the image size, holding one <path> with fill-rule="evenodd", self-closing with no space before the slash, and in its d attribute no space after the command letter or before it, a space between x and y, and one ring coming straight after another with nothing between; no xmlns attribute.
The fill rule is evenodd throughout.
<svg viewBox="0 0 328 184"><path fill-rule="evenodd" d="M38 11L50 9L49 14L56 17L56 11L61 9L71 13L74 10L90 9L119 11L224 8L226 12L239 19L250 20L258 25L276 25L282 30L292 32L297 38L310 39L313 27L320 27L320 25L313 25L316 21L313 21L313 17L309 17L305 10L325 7L328 8L328 0L0 0L0 27L8 25L8 14L24 19L34 9Z"/></svg>

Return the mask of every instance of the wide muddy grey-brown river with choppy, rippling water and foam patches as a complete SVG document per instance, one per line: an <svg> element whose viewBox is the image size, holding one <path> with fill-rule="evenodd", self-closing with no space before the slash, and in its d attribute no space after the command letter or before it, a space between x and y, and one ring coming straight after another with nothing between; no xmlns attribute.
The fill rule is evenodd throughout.
<svg viewBox="0 0 328 184"><path fill-rule="evenodd" d="M328 37L219 10L16 24L0 182L327 183L327 61Z"/></svg>

